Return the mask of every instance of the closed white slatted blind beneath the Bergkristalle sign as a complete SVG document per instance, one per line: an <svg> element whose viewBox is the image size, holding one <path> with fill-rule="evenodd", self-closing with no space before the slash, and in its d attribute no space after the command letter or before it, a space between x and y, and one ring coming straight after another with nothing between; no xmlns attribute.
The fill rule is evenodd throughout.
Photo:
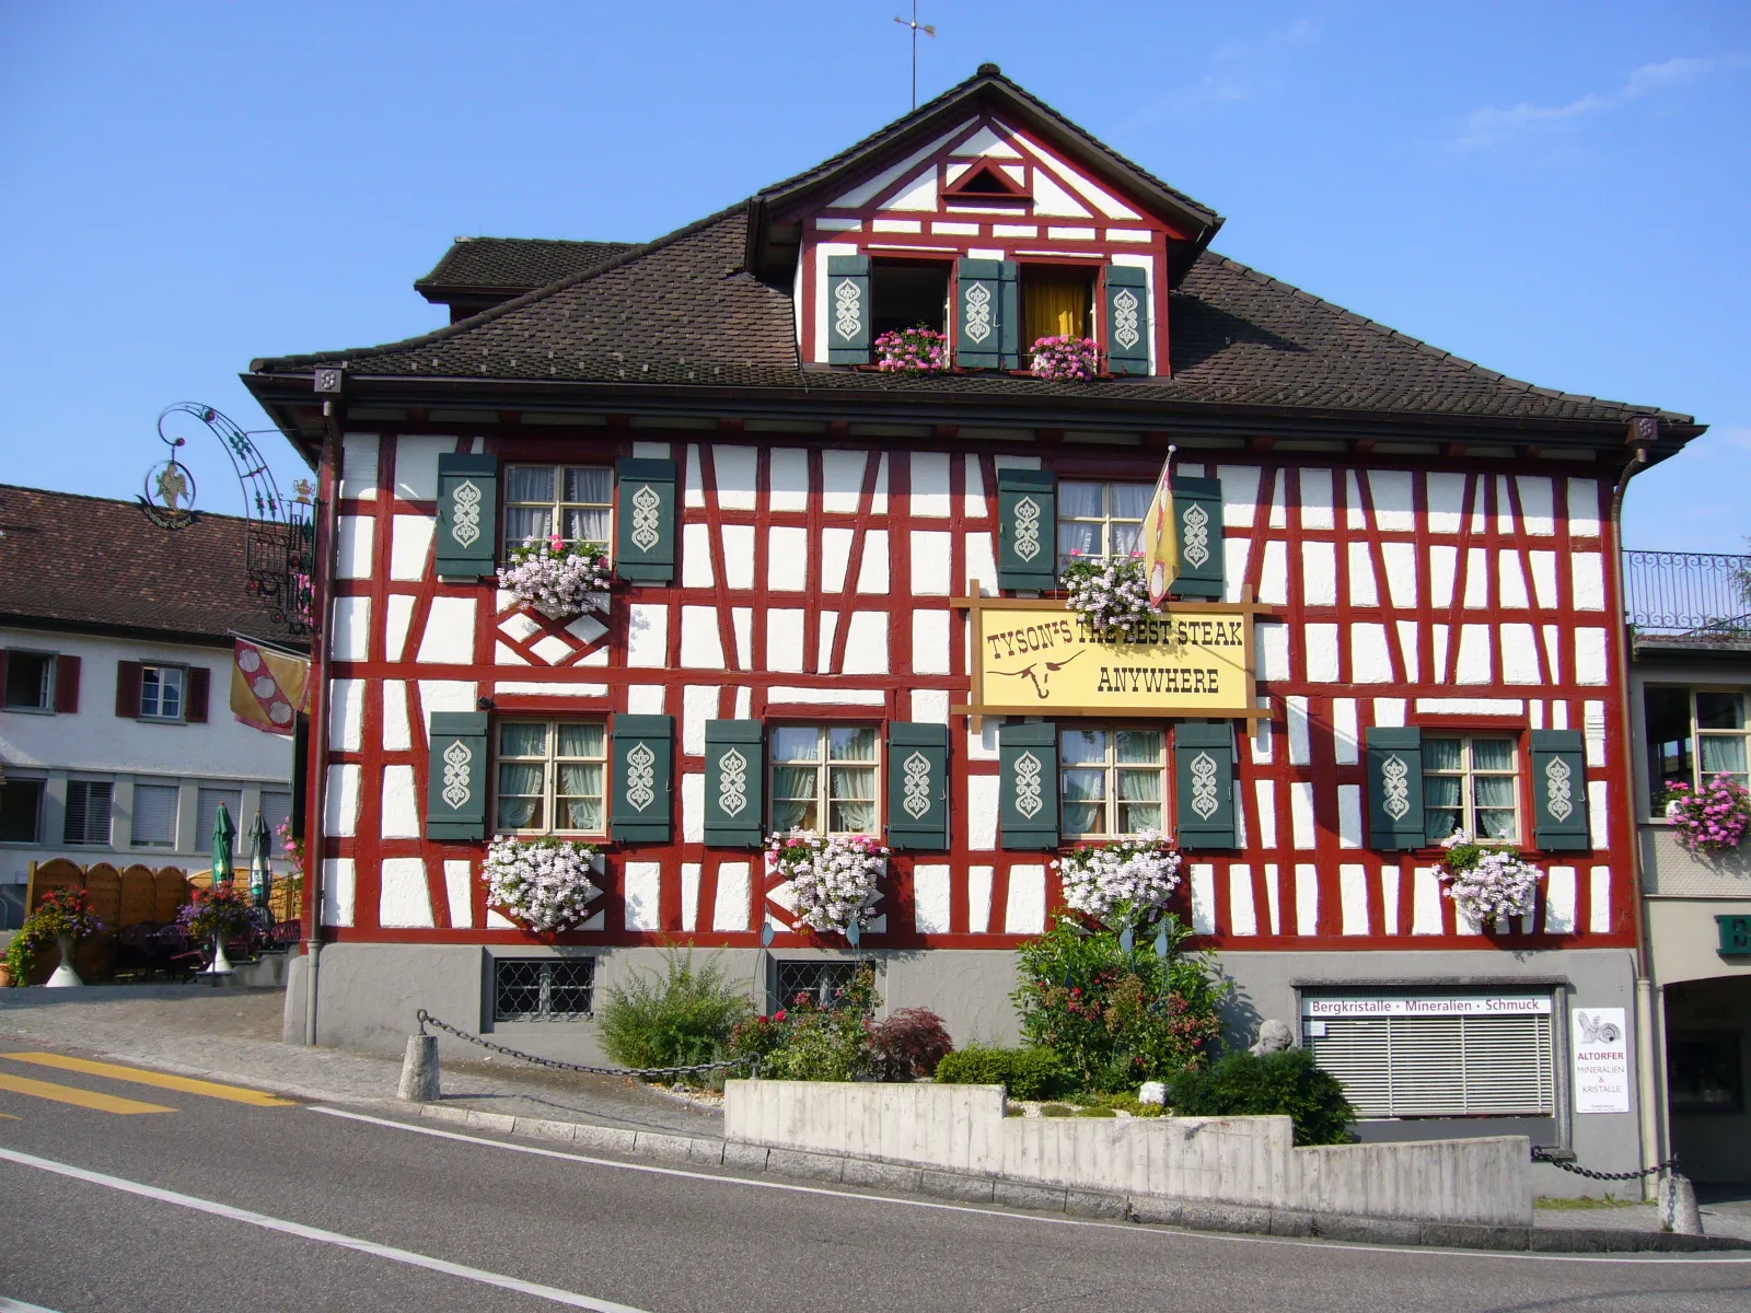
<svg viewBox="0 0 1751 1313"><path fill-rule="evenodd" d="M1333 1017L1313 1059L1362 1117L1553 1117L1551 1017Z"/></svg>

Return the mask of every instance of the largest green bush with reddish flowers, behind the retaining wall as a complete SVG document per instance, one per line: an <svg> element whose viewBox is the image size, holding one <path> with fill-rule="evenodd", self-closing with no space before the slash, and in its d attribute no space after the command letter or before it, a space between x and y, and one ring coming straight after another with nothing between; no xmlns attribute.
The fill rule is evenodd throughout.
<svg viewBox="0 0 1751 1313"><path fill-rule="evenodd" d="M1147 926L1131 947L1112 930L1058 917L1021 947L1012 994L1021 1033L1058 1054L1077 1087L1135 1091L1203 1066L1222 1036L1217 1003L1227 986L1205 954L1182 952L1189 931L1168 914L1166 956Z"/></svg>

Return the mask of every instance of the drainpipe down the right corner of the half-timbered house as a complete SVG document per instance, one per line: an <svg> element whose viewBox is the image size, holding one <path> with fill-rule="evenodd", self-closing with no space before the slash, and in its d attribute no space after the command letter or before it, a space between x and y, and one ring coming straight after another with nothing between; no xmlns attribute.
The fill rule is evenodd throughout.
<svg viewBox="0 0 1751 1313"><path fill-rule="evenodd" d="M1651 415L1639 415L1632 427L1632 439L1646 439L1658 434L1658 420ZM1618 471L1616 488L1611 494L1611 541L1616 546L1616 565L1613 578L1616 581L1614 602L1616 602L1616 630L1618 630L1618 669L1623 671L1623 697L1620 699L1620 734L1625 751L1632 753L1634 737L1634 720L1630 713L1632 685L1630 685L1630 627L1628 627L1628 607L1623 599L1623 497L1628 492L1630 480L1635 473L1648 464L1648 448L1637 443L1634 453L1623 462L1623 469ZM1628 826L1628 860L1630 860L1630 919L1635 928L1635 1103L1641 1113L1641 1150L1642 1166L1651 1168L1655 1162L1665 1161L1665 1138L1662 1134L1663 1117L1660 1108L1660 1066L1665 1063L1665 1042L1663 1042L1663 1008L1655 994L1653 986L1653 945L1648 944L1648 928L1642 917L1642 877L1641 877L1641 826L1637 825L1635 809L1635 762L1634 753L1628 762L1625 762L1623 772L1623 823ZM1653 1197L1656 1185L1653 1178L1642 1178L1642 1192L1646 1197Z"/></svg>

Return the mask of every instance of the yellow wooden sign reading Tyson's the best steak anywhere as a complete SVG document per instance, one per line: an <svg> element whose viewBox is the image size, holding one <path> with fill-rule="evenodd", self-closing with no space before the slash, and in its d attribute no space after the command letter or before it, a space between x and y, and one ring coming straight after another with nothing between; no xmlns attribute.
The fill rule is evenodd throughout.
<svg viewBox="0 0 1751 1313"><path fill-rule="evenodd" d="M1056 600L958 597L972 625L979 716L1268 716L1252 621L1271 607L1170 602L1135 634L1100 632Z"/></svg>

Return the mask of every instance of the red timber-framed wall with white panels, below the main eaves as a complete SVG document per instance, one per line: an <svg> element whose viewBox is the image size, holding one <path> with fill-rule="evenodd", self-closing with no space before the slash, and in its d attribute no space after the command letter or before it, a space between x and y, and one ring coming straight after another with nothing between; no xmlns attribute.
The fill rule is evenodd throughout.
<svg viewBox="0 0 1751 1313"><path fill-rule="evenodd" d="M769 916L781 926L777 949L840 942L788 930L784 909L765 898L774 881L758 851L688 837L711 718L949 725L951 847L890 860L867 947L1012 947L1061 905L1051 854L1000 847L995 728L974 737L965 716L949 714L970 693L967 621L951 600L968 579L995 578L1000 466L1152 481L1159 453L723 427L420 424L345 439L336 550L350 553L352 578L334 578L333 597L348 620L331 620L324 672L320 856L333 938L529 942L489 924L483 844L429 842L408 825L410 805L424 812L425 716L471 711L478 699L492 699L496 714L674 718L676 842L611 846L595 909L602 928L560 944L756 947ZM440 450L503 462L672 459L674 583L616 590L604 634L546 620L510 634L515 607L490 583L432 576L429 474ZM1222 483L1227 597L1250 588L1276 611L1257 632L1269 718L1240 741L1236 760L1241 842L1189 854L1178 912L1199 944L1227 951L1630 947L1634 835L1613 805L1625 797L1628 746L1609 473L1574 460L1366 460L1191 448L1177 459L1177 476ZM324 469L324 485L334 480ZM440 632L468 604L471 630ZM1537 914L1466 933L1436 893L1438 851L1368 847L1361 744L1375 725L1511 734L1523 795L1529 732L1585 732L1592 851L1534 853L1551 872ZM1530 825L1522 832L1532 849ZM399 881L387 900L383 863ZM634 919L641 928L629 928L630 863L658 868L657 910Z"/></svg>

